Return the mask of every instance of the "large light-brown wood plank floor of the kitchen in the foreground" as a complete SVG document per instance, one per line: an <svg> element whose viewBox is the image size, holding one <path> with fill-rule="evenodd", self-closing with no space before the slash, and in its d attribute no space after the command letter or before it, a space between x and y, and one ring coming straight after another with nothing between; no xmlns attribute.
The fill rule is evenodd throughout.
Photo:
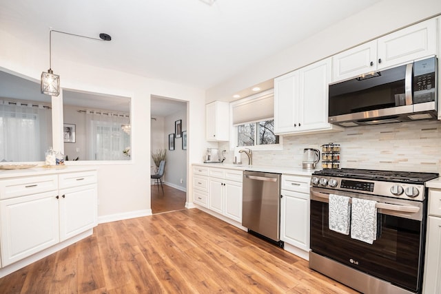
<svg viewBox="0 0 441 294"><path fill-rule="evenodd" d="M198 209L99 224L0 293L357 293Z"/></svg>

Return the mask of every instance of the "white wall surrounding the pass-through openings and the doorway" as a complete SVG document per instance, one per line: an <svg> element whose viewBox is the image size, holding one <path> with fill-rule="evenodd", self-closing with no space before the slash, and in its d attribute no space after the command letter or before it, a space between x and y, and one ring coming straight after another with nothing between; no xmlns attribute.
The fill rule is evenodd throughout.
<svg viewBox="0 0 441 294"><path fill-rule="evenodd" d="M14 32L0 30L0 67L39 80L48 68L48 52L41 52L32 43L14 37ZM205 112L205 92L200 89L156 81L123 72L90 67L72 61L57 60L52 63L56 74L61 75L61 87L126 96L132 98L132 160L130 162L69 162L92 164L99 169L100 221L117 220L151 213L150 209L150 96L165 96L189 101L187 112L187 160L201 162L205 145L205 124L199 115ZM62 97L60 97L61 99ZM54 101L57 102L57 98ZM62 107L52 103L53 117L62 113ZM57 113L57 109L59 109ZM147 114L147 115L146 115ZM194 115L192 115L194 114ZM63 123L57 118L54 123ZM54 140L62 140L62 128L55 128ZM189 167L187 168L189 169ZM187 174L190 174L187 170ZM189 181L192 179L189 178ZM191 185L187 187L191 197ZM191 199L190 199L191 200Z"/></svg>

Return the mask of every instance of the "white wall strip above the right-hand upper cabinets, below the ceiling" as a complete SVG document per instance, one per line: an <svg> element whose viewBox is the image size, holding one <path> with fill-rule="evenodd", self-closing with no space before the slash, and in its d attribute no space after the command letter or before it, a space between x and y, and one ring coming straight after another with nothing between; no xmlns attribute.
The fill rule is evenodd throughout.
<svg viewBox="0 0 441 294"><path fill-rule="evenodd" d="M320 8L318 8L320 9ZM329 13L332 13L331 11ZM207 90L206 102L232 101L232 95L347 48L441 13L440 0L383 0L301 43L247 67ZM320 21L320 20L317 20ZM301 30L302 28L299 28ZM289 38L289 36L287 36ZM264 42L263 46L267 45Z"/></svg>

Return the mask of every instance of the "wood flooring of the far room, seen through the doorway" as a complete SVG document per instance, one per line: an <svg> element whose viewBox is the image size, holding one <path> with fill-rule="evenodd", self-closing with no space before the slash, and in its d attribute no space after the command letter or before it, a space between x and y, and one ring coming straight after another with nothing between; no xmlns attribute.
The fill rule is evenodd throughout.
<svg viewBox="0 0 441 294"><path fill-rule="evenodd" d="M151 186L152 213L185 209L187 193L167 185L163 185L163 187L164 191L161 189L161 185L159 185L159 189L158 185Z"/></svg>

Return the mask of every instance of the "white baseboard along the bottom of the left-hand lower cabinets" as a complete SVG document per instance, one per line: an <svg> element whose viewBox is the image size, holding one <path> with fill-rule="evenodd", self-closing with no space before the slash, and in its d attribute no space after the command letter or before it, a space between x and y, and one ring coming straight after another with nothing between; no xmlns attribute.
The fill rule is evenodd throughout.
<svg viewBox="0 0 441 294"><path fill-rule="evenodd" d="M78 242L81 239L84 239L90 235L92 235L93 229L90 229L88 231L85 231L79 235L76 235L68 240L65 240L61 243L55 244L54 246L49 247L48 249L45 249L43 251L40 251L38 253L35 253L33 255L30 255L28 258L23 258L23 260L19 260L18 262L14 262L13 264L10 264L8 266L3 267L3 269L0 269L0 277L4 277L6 275L9 275L10 273L13 273L14 271L18 271L19 269L28 266L29 264L32 264L33 262L36 262L37 260L41 260L41 258L45 258L46 256L51 255L52 253L55 253L57 251L60 251L61 249L70 246L76 242Z"/></svg>

